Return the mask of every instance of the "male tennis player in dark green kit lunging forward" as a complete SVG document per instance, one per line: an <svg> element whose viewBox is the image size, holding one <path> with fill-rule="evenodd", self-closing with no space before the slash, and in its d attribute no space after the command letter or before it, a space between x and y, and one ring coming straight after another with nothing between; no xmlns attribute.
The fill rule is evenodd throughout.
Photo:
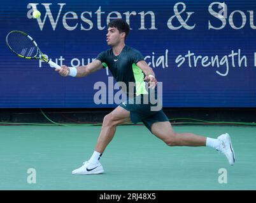
<svg viewBox="0 0 256 203"><path fill-rule="evenodd" d="M146 81L150 88L155 88L157 79L151 67L145 62L141 53L125 45L125 39L129 34L129 25L121 19L113 20L108 24L108 33L106 41L111 49L101 52L96 60L85 66L67 67L63 65L61 69L55 69L62 76L71 75L73 77L85 77L92 72L101 70L106 63L116 81L124 82L127 87L129 82L143 84ZM145 83L145 86L148 85ZM128 89L128 88L127 88ZM72 174L100 174L104 172L99 159L103 154L108 143L112 140L118 124L126 122L143 122L155 136L163 140L169 146L208 146L222 152L229 164L233 165L235 161L234 150L231 144L229 134L225 133L218 136L217 139L206 138L192 133L176 133L162 111L152 111L152 103L132 103L134 99L143 100L143 96L149 95L148 89L136 86L133 98L121 103L110 114L106 115L103 120L103 126L99 135L97 145L92 157L83 163L82 167L72 171Z"/></svg>

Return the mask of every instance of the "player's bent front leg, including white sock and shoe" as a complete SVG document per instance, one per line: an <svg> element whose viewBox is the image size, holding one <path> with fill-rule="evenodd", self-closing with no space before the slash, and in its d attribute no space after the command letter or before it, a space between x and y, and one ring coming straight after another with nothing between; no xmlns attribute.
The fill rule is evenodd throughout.
<svg viewBox="0 0 256 203"><path fill-rule="evenodd" d="M92 157L87 162L83 163L82 167L72 171L72 174L100 174L104 172L103 166L99 163L99 159L103 154L108 143L112 140L117 125L130 122L130 112L118 106L110 114L103 119L101 133L97 140L97 145Z"/></svg>

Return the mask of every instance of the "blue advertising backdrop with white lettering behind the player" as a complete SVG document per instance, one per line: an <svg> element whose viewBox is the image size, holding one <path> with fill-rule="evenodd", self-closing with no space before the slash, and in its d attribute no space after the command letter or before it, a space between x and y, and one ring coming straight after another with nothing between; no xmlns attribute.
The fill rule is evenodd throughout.
<svg viewBox="0 0 256 203"><path fill-rule="evenodd" d="M31 18L31 6L41 18ZM23 30L57 63L86 65L109 47L107 22L131 26L126 44L163 83L164 107L256 107L254 1L3 1L0 5L0 107L97 105L94 84L111 76L60 77L48 64L11 53L5 37Z"/></svg>

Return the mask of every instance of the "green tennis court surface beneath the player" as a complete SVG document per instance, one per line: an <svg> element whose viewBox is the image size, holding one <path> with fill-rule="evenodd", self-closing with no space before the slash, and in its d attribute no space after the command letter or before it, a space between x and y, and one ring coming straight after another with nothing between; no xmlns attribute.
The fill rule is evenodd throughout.
<svg viewBox="0 0 256 203"><path fill-rule="evenodd" d="M209 147L168 147L145 126L118 126L101 158L105 173L75 176L101 126L0 126L0 190L255 190L256 128L174 126L217 138L229 133L236 163ZM36 183L27 183L28 169ZM218 171L226 170L227 183ZM35 180L35 179L34 179Z"/></svg>

